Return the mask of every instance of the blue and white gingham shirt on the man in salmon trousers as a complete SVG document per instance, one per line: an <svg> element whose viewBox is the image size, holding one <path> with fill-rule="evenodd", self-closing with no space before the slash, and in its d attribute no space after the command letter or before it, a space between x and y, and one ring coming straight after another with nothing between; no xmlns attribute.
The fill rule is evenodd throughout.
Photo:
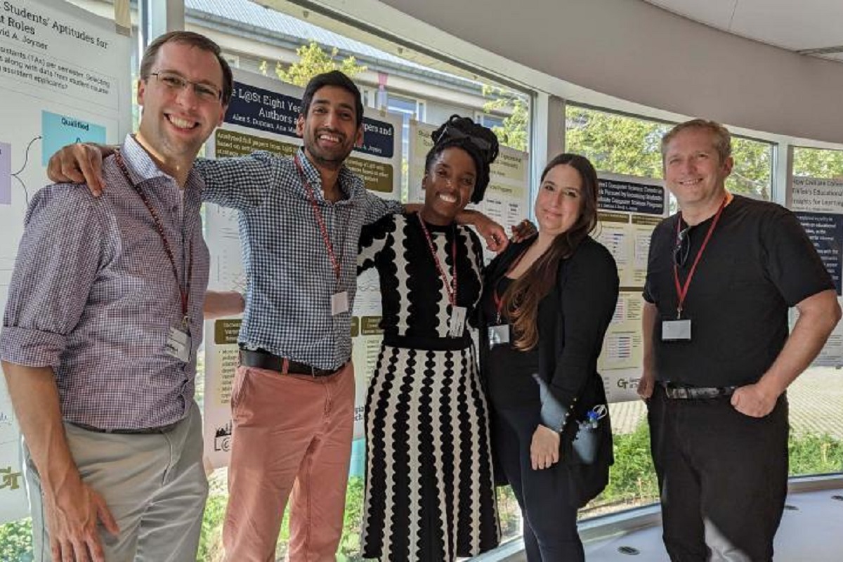
<svg viewBox="0 0 843 562"><path fill-rule="evenodd" d="M351 309L357 290L357 241L363 224L402 211L397 201L369 193L343 167L345 198L326 201L319 172L299 149L340 261L337 282L314 210L293 158L257 152L240 158L196 161L205 179L205 201L239 210L246 273L246 309L239 342L319 369L338 367L352 355ZM349 311L332 316L330 296L347 291Z"/></svg>

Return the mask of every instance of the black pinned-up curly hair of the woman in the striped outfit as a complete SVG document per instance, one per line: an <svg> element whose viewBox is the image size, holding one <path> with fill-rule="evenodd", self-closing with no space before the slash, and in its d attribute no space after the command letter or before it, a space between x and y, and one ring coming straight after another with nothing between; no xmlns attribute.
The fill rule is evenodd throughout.
<svg viewBox="0 0 843 562"><path fill-rule="evenodd" d="M495 161L498 153L495 133L468 117L451 115L436 131L431 133L430 137L433 140L433 147L425 158L425 172L427 174L432 172L433 161L446 148L462 148L466 153L469 153L477 169L477 179L474 192L471 194L471 202L480 203L483 201L486 186L489 185L489 164Z"/></svg>

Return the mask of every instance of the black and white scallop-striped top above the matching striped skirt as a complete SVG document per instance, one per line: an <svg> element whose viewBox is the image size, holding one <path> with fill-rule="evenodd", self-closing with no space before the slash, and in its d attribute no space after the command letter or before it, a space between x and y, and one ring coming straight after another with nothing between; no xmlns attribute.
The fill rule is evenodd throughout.
<svg viewBox="0 0 843 562"><path fill-rule="evenodd" d="M481 293L480 239L469 227L425 224L448 284L456 250L456 302L470 319ZM362 228L357 273L371 267L379 273L385 344L429 350L471 345L467 329L461 338L448 336L452 307L416 213L387 215Z"/></svg>

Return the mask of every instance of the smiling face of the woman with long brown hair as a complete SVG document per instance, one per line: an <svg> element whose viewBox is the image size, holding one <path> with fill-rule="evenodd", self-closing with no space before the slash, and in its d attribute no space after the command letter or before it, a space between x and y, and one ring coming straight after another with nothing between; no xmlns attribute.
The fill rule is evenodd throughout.
<svg viewBox="0 0 843 562"><path fill-rule="evenodd" d="M583 178L567 164L551 168L535 198L535 217L539 232L556 236L566 233L583 211Z"/></svg>

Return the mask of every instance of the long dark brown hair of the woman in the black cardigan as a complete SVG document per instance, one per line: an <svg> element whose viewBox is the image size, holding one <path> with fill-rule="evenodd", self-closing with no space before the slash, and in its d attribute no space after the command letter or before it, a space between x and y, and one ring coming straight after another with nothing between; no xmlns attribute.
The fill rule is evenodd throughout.
<svg viewBox="0 0 843 562"><path fill-rule="evenodd" d="M541 181L545 181L545 176L551 169L561 165L576 169L583 180L583 189L580 192L583 202L577 222L564 233L557 234L550 248L530 265L523 276L513 281L503 296L503 309L507 311L515 332L515 346L522 351L533 349L539 343L539 302L556 285L559 262L570 258L577 251L579 244L597 226L599 184L592 163L578 154L559 154L547 163L541 173Z"/></svg>

